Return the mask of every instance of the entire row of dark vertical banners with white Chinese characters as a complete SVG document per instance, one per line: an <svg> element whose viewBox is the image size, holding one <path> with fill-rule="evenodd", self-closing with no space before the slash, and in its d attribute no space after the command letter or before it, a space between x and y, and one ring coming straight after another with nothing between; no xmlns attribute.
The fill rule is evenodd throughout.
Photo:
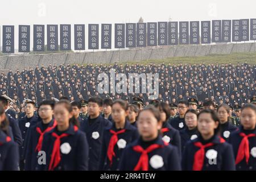
<svg viewBox="0 0 256 182"><path fill-rule="evenodd" d="M99 24L88 24L88 49L99 49L99 28ZM250 19L250 23L249 19L212 20L212 23L210 21L202 21L201 35L199 21L117 23L114 24L114 28L114 48L256 40L256 19ZM34 24L33 30L33 50L45 51L44 25ZM48 24L48 51L57 51L59 49L58 36L58 25ZM3 26L2 41L2 52L14 53L14 26ZM74 25L74 41L75 50L85 50L84 24ZM101 24L101 48L112 48L112 24ZM60 50L71 50L71 24L60 24ZM29 25L19 25L19 52L30 52Z"/></svg>

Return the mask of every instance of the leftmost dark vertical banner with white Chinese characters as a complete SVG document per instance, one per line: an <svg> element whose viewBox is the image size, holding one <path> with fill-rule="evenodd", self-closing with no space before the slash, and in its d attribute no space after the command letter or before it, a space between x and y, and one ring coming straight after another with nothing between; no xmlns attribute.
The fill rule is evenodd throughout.
<svg viewBox="0 0 256 182"><path fill-rule="evenodd" d="M3 53L14 53L14 26L3 26Z"/></svg>

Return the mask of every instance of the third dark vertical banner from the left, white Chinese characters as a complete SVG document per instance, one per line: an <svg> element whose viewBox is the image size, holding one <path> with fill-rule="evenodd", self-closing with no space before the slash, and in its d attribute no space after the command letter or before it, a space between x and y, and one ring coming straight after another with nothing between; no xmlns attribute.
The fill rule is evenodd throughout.
<svg viewBox="0 0 256 182"><path fill-rule="evenodd" d="M33 51L44 51L44 25L34 24Z"/></svg>

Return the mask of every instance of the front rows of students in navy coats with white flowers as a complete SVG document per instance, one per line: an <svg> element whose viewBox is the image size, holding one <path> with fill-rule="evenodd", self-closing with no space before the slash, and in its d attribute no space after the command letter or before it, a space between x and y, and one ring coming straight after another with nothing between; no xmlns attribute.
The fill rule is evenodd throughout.
<svg viewBox="0 0 256 182"><path fill-rule="evenodd" d="M256 170L256 98L239 110L193 98L26 100L23 117L0 96L0 170Z"/></svg>

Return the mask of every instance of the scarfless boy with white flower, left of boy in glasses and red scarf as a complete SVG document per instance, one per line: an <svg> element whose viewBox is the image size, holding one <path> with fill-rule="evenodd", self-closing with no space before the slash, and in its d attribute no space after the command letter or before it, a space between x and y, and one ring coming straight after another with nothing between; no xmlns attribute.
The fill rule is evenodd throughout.
<svg viewBox="0 0 256 182"><path fill-rule="evenodd" d="M34 113L35 111L35 102L27 102L25 106L26 116L19 119L19 129L22 133L22 146L19 147L19 159L20 159L20 171L24 169L24 159L26 155L26 140L27 140L27 131L29 127L35 126L38 122L38 117Z"/></svg>

